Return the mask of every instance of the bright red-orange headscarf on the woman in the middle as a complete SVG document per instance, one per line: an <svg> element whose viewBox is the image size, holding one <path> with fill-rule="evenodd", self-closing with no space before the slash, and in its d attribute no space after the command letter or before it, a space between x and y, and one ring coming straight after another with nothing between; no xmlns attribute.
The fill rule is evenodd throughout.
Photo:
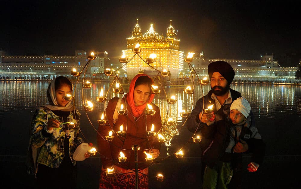
<svg viewBox="0 0 301 189"><path fill-rule="evenodd" d="M139 115L141 115L143 113L143 111L145 110L145 108L146 108L146 104L150 104L153 101L154 97L155 97L154 94L150 94L149 95L149 99L148 99L147 102L145 102L141 106L135 106L134 88L135 88L135 82L138 79L138 77L140 77L140 76L147 76L147 77L149 77L151 79L150 76L142 74L142 73L139 73L138 75L136 75L132 79L131 84L130 84L130 88L129 88L129 93L126 94L126 101L129 103L129 106L131 107L133 115L135 117L138 117ZM151 79L151 80L153 81L153 79Z"/></svg>

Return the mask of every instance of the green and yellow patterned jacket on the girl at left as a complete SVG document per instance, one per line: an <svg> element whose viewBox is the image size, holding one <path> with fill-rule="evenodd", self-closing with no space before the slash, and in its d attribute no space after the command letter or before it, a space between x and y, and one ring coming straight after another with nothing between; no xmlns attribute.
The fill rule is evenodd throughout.
<svg viewBox="0 0 301 189"><path fill-rule="evenodd" d="M64 158L64 140L66 137L66 129L64 125L60 125L59 128L54 128L53 133L46 132L47 121L50 118L57 119L60 122L66 122L68 119L74 122L77 126L75 129L70 129L69 138L69 155L73 165L76 161L73 160L73 153L76 147L83 143L81 137L79 137L79 116L80 113L76 110L76 115L74 111L69 113L69 116L60 117L54 114L51 110L37 109L33 116L33 121L31 123L32 135L30 138L30 145L34 148L40 148L40 153L38 154L37 163L44 164L51 168L57 168L60 166ZM73 119L73 120L72 120Z"/></svg>

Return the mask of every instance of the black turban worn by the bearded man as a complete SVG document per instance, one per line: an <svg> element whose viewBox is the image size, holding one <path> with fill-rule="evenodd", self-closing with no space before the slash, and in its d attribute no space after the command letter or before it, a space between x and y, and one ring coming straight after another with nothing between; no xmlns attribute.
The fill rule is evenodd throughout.
<svg viewBox="0 0 301 189"><path fill-rule="evenodd" d="M223 77L225 77L225 79L228 81L228 85L230 85L230 83L233 81L235 75L232 66L225 61L211 62L208 65L209 79L211 79L214 72L219 72Z"/></svg>

